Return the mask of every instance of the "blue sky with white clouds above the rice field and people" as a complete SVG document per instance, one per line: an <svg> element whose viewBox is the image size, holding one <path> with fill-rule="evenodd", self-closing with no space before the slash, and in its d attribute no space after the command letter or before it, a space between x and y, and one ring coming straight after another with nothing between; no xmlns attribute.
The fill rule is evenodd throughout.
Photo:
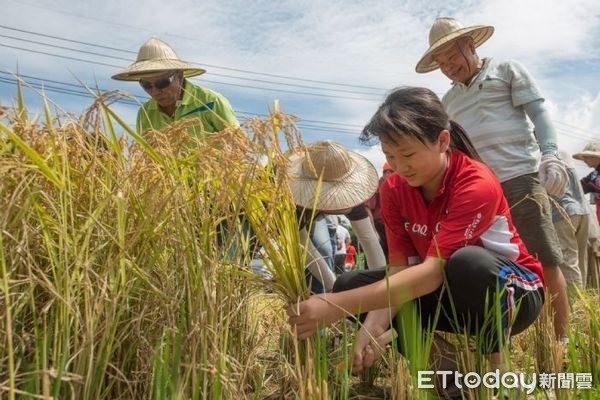
<svg viewBox="0 0 600 400"><path fill-rule="evenodd" d="M0 104L14 101L14 84L5 80L17 64L21 74L46 80L48 88L81 91L63 84L78 84L79 79L144 97L135 83L112 81L110 76L119 70L116 66L133 61L145 40L159 36L181 58L205 66L208 72L194 82L224 94L236 110L264 114L277 98L283 111L300 118L306 142L336 140L365 154L380 169L378 147L360 145L358 134L386 91L415 85L442 95L450 86L439 71L414 72L437 16L495 26L479 54L519 60L532 72L556 121L560 146L574 152L600 137L597 0L55 0L52 5L2 0ZM91 102L47 94L74 114ZM37 95L30 93L27 102L35 109ZM115 107L133 123L136 106ZM578 171L586 170L577 165Z"/></svg>

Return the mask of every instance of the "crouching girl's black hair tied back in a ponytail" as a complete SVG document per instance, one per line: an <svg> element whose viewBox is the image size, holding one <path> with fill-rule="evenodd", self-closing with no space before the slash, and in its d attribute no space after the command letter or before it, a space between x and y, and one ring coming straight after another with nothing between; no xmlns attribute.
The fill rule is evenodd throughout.
<svg viewBox="0 0 600 400"><path fill-rule="evenodd" d="M431 90L419 87L394 89L364 127L360 141L373 138L396 142L399 136L412 136L424 144L435 143L440 132L450 132L450 148L481 161L464 128L450 120L440 99Z"/></svg>

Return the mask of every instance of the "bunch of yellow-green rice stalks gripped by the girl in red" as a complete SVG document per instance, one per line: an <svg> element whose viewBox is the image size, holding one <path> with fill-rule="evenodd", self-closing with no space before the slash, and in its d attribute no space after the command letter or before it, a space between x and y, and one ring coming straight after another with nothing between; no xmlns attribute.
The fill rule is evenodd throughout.
<svg viewBox="0 0 600 400"><path fill-rule="evenodd" d="M266 153L265 165L254 171L257 182L273 184L259 188L248 186L249 198L245 216L266 253L265 264L272 281L269 286L287 304L295 304L308 297L305 279L307 243L300 239L299 215L287 182L287 156L279 146L278 131L286 139L287 152L306 151L295 128L294 119L273 113L269 121L252 121L254 132L267 132L259 141L272 143ZM317 199L315 199L316 201ZM314 214L309 216L309 227ZM285 333L282 346L294 364L295 380L299 383L299 398L329 398L329 357L327 334L320 332L307 341L298 341ZM291 353L291 354L290 354Z"/></svg>

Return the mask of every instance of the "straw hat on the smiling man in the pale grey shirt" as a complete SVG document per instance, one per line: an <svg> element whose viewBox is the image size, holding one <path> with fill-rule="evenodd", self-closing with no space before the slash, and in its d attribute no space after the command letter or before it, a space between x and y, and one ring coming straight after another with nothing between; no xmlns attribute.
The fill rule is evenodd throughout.
<svg viewBox="0 0 600 400"><path fill-rule="evenodd" d="M429 49L423 54L415 70L419 73L425 73L439 68L438 63L433 60L433 55L461 37L471 36L477 48L488 40L492 33L494 33L493 26L475 25L464 27L454 18L436 18L429 31Z"/></svg>

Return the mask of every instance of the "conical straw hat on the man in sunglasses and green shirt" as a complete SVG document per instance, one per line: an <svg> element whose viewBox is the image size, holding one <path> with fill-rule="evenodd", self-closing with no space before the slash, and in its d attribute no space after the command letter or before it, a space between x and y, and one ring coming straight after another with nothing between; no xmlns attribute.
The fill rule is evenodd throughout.
<svg viewBox="0 0 600 400"><path fill-rule="evenodd" d="M137 59L129 67L112 76L119 81L137 81L141 78L155 76L165 71L183 71L187 78L205 73L198 68L182 61L175 50L157 37L150 38L140 47Z"/></svg>

